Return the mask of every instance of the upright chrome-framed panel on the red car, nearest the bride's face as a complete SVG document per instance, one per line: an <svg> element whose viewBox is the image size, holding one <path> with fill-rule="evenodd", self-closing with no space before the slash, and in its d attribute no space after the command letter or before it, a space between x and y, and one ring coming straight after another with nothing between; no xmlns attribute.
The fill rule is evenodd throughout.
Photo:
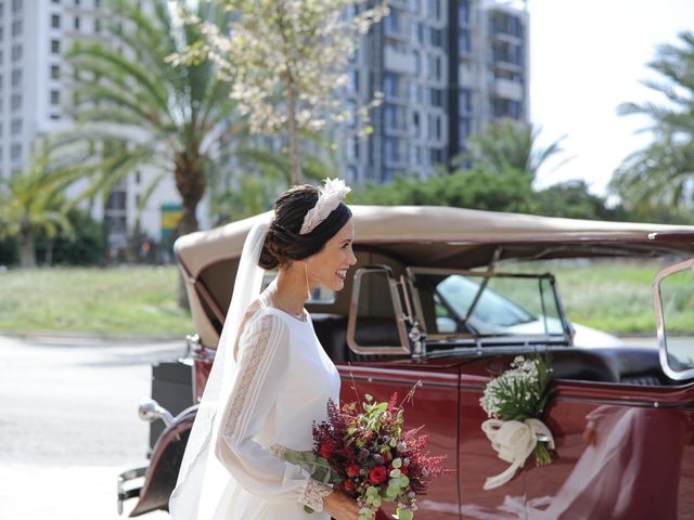
<svg viewBox="0 0 694 520"><path fill-rule="evenodd" d="M347 346L357 354L410 354L402 299L403 284L388 265L357 270L352 286ZM404 308L409 309L406 302Z"/></svg>

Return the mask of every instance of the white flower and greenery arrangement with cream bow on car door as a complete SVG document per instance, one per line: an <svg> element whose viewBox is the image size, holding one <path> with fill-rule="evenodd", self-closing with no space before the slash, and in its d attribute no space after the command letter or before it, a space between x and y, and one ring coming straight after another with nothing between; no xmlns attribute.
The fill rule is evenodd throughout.
<svg viewBox="0 0 694 520"><path fill-rule="evenodd" d="M479 404L489 420L483 422L481 429L499 458L511 466L501 474L487 479L485 490L499 487L511 480L532 452L538 466L552 461L549 450L554 448L554 439L540 420L551 379L548 355L536 354L530 360L519 355L510 369L487 384Z"/></svg>

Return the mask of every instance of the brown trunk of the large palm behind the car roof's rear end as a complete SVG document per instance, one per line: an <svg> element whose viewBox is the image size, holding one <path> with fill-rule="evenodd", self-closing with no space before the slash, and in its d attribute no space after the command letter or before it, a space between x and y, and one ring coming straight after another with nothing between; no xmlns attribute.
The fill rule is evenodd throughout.
<svg viewBox="0 0 694 520"><path fill-rule="evenodd" d="M205 195L207 179L203 159L190 151L176 154L174 174L176 177L176 187L181 195L183 204L183 214L176 229L176 236L178 237L197 231L197 204ZM178 304L181 309L189 308L185 281L182 275L179 275Z"/></svg>

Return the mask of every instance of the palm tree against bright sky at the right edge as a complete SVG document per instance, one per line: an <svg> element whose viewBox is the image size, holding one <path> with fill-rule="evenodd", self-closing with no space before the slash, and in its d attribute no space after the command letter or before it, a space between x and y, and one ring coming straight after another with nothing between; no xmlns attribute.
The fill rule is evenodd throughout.
<svg viewBox="0 0 694 520"><path fill-rule="evenodd" d="M682 47L661 46L648 68L661 79L643 84L666 103L625 103L620 115L648 116L654 142L627 157L615 171L611 190L627 207L691 207L694 183L694 34L679 35Z"/></svg>

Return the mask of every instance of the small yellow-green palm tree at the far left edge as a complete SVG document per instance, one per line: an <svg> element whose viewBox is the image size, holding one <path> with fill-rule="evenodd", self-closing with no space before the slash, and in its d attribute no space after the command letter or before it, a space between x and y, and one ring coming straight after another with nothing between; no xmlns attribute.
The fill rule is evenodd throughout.
<svg viewBox="0 0 694 520"><path fill-rule="evenodd" d="M0 237L20 237L23 268L36 266L38 230L43 230L49 240L61 232L73 234L67 213L77 199L68 202L63 192L83 176L80 166L65 166L56 158L47 142L37 150L25 170L0 180Z"/></svg>

